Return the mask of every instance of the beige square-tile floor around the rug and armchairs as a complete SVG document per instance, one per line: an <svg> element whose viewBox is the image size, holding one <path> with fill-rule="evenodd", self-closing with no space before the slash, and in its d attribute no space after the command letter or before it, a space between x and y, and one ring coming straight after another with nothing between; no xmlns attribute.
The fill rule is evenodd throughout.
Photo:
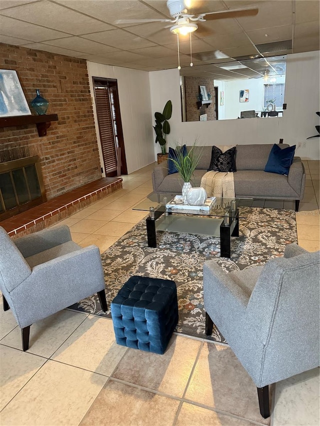
<svg viewBox="0 0 320 426"><path fill-rule="evenodd" d="M319 162L304 161L305 196L296 214L299 244L319 250ZM81 246L105 251L143 212L153 165L123 177L123 189L63 221ZM164 355L115 344L111 320L70 310L32 325L30 349L0 309L0 425L319 424L318 369L273 387L271 418L232 351L174 335Z"/></svg>

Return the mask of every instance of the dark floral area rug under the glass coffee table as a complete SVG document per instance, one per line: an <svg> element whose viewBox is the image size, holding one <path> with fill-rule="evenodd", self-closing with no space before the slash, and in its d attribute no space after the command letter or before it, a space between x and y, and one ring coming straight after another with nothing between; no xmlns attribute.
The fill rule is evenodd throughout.
<svg viewBox="0 0 320 426"><path fill-rule="evenodd" d="M286 244L297 242L293 210L240 207L240 212L247 217L239 221L240 236L231 237L230 259L219 257L217 237L157 232L157 248L150 248L141 220L101 255L108 307L132 275L173 280L179 309L176 332L226 343L215 327L210 338L205 336L203 263L215 259L225 272L238 271L282 256ZM70 308L110 318L110 311L101 311L96 295Z"/></svg>

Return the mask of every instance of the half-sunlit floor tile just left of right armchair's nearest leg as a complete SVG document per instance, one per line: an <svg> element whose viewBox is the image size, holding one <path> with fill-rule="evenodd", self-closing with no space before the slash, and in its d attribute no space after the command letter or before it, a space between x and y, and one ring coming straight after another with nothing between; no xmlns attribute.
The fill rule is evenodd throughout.
<svg viewBox="0 0 320 426"><path fill-rule="evenodd" d="M256 387L230 348L204 343L185 399L247 420L262 419Z"/></svg>

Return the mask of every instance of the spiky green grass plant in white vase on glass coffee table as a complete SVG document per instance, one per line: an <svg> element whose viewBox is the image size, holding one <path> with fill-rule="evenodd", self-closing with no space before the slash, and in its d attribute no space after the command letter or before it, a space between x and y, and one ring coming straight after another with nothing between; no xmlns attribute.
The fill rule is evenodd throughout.
<svg viewBox="0 0 320 426"><path fill-rule="evenodd" d="M202 149L196 147L195 140L193 145L187 152L185 149L183 149L183 146L181 144L175 142L174 151L174 154L171 158L168 159L168 161L172 161L183 180L181 193L183 197L183 204L187 204L186 194L191 188L190 180L201 158Z"/></svg>

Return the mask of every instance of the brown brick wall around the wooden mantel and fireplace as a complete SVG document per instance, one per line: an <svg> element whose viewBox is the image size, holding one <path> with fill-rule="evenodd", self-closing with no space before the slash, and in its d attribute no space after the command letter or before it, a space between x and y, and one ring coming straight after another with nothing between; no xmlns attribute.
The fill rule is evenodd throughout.
<svg viewBox="0 0 320 426"><path fill-rule="evenodd" d="M28 103L39 89L58 114L43 137L35 124L0 128L0 162L39 155L47 199L99 179L85 60L0 43L0 68L17 72Z"/></svg>

